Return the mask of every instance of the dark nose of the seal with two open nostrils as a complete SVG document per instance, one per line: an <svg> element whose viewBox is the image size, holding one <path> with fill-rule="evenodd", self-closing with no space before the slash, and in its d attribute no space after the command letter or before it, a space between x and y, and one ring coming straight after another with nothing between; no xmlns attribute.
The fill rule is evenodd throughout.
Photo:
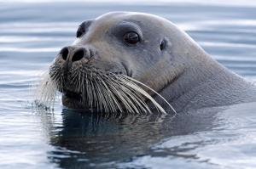
<svg viewBox="0 0 256 169"><path fill-rule="evenodd" d="M90 59L94 55L92 51L89 48L65 47L61 49L60 55L64 60L75 62L83 58Z"/></svg>

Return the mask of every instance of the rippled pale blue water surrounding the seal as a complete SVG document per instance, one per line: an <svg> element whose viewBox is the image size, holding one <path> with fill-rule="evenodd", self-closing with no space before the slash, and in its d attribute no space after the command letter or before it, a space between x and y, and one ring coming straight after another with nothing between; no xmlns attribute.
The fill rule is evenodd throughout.
<svg viewBox="0 0 256 169"><path fill-rule="evenodd" d="M172 20L215 59L256 77L256 7L230 3L0 3L0 168L255 168L255 103L101 117L32 107L30 85L83 20L113 10ZM237 5L242 4L242 6ZM207 112L207 113L206 113Z"/></svg>

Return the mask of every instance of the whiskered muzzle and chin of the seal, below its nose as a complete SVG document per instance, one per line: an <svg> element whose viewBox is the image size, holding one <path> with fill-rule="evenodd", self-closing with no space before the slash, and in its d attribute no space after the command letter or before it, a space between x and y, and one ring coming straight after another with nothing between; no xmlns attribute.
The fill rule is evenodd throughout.
<svg viewBox="0 0 256 169"><path fill-rule="evenodd" d="M115 73L96 69L89 70L83 67L71 71L70 78L67 79L64 79L61 70L55 70L52 75L47 74L45 76L39 91L40 100L47 106L54 103L55 94L59 91L62 93L62 104L68 109L83 109L107 114L127 112L140 115L142 113L152 113L151 106L148 106L148 101L150 101L158 112L166 114L166 110L142 87L157 93L154 89L143 84L143 82L126 76L121 71ZM161 96L160 98L176 112L166 99Z"/></svg>

